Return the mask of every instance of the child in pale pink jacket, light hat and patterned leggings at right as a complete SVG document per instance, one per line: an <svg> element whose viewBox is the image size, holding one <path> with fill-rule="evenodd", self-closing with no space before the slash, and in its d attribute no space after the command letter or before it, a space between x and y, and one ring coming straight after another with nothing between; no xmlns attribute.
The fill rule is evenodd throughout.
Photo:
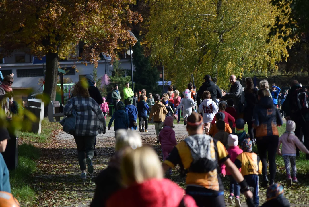
<svg viewBox="0 0 309 207"><path fill-rule="evenodd" d="M297 183L298 180L296 178L296 146L302 152L309 154L308 149L300 142L300 140L295 136L295 122L289 120L286 122L286 132L279 137L279 144L277 153L282 155L284 160L284 165L286 166L286 180L290 185L293 183ZM282 153L280 150L280 145L282 143ZM295 146L296 145L296 146ZM291 168L292 168L292 176L291 177Z"/></svg>

